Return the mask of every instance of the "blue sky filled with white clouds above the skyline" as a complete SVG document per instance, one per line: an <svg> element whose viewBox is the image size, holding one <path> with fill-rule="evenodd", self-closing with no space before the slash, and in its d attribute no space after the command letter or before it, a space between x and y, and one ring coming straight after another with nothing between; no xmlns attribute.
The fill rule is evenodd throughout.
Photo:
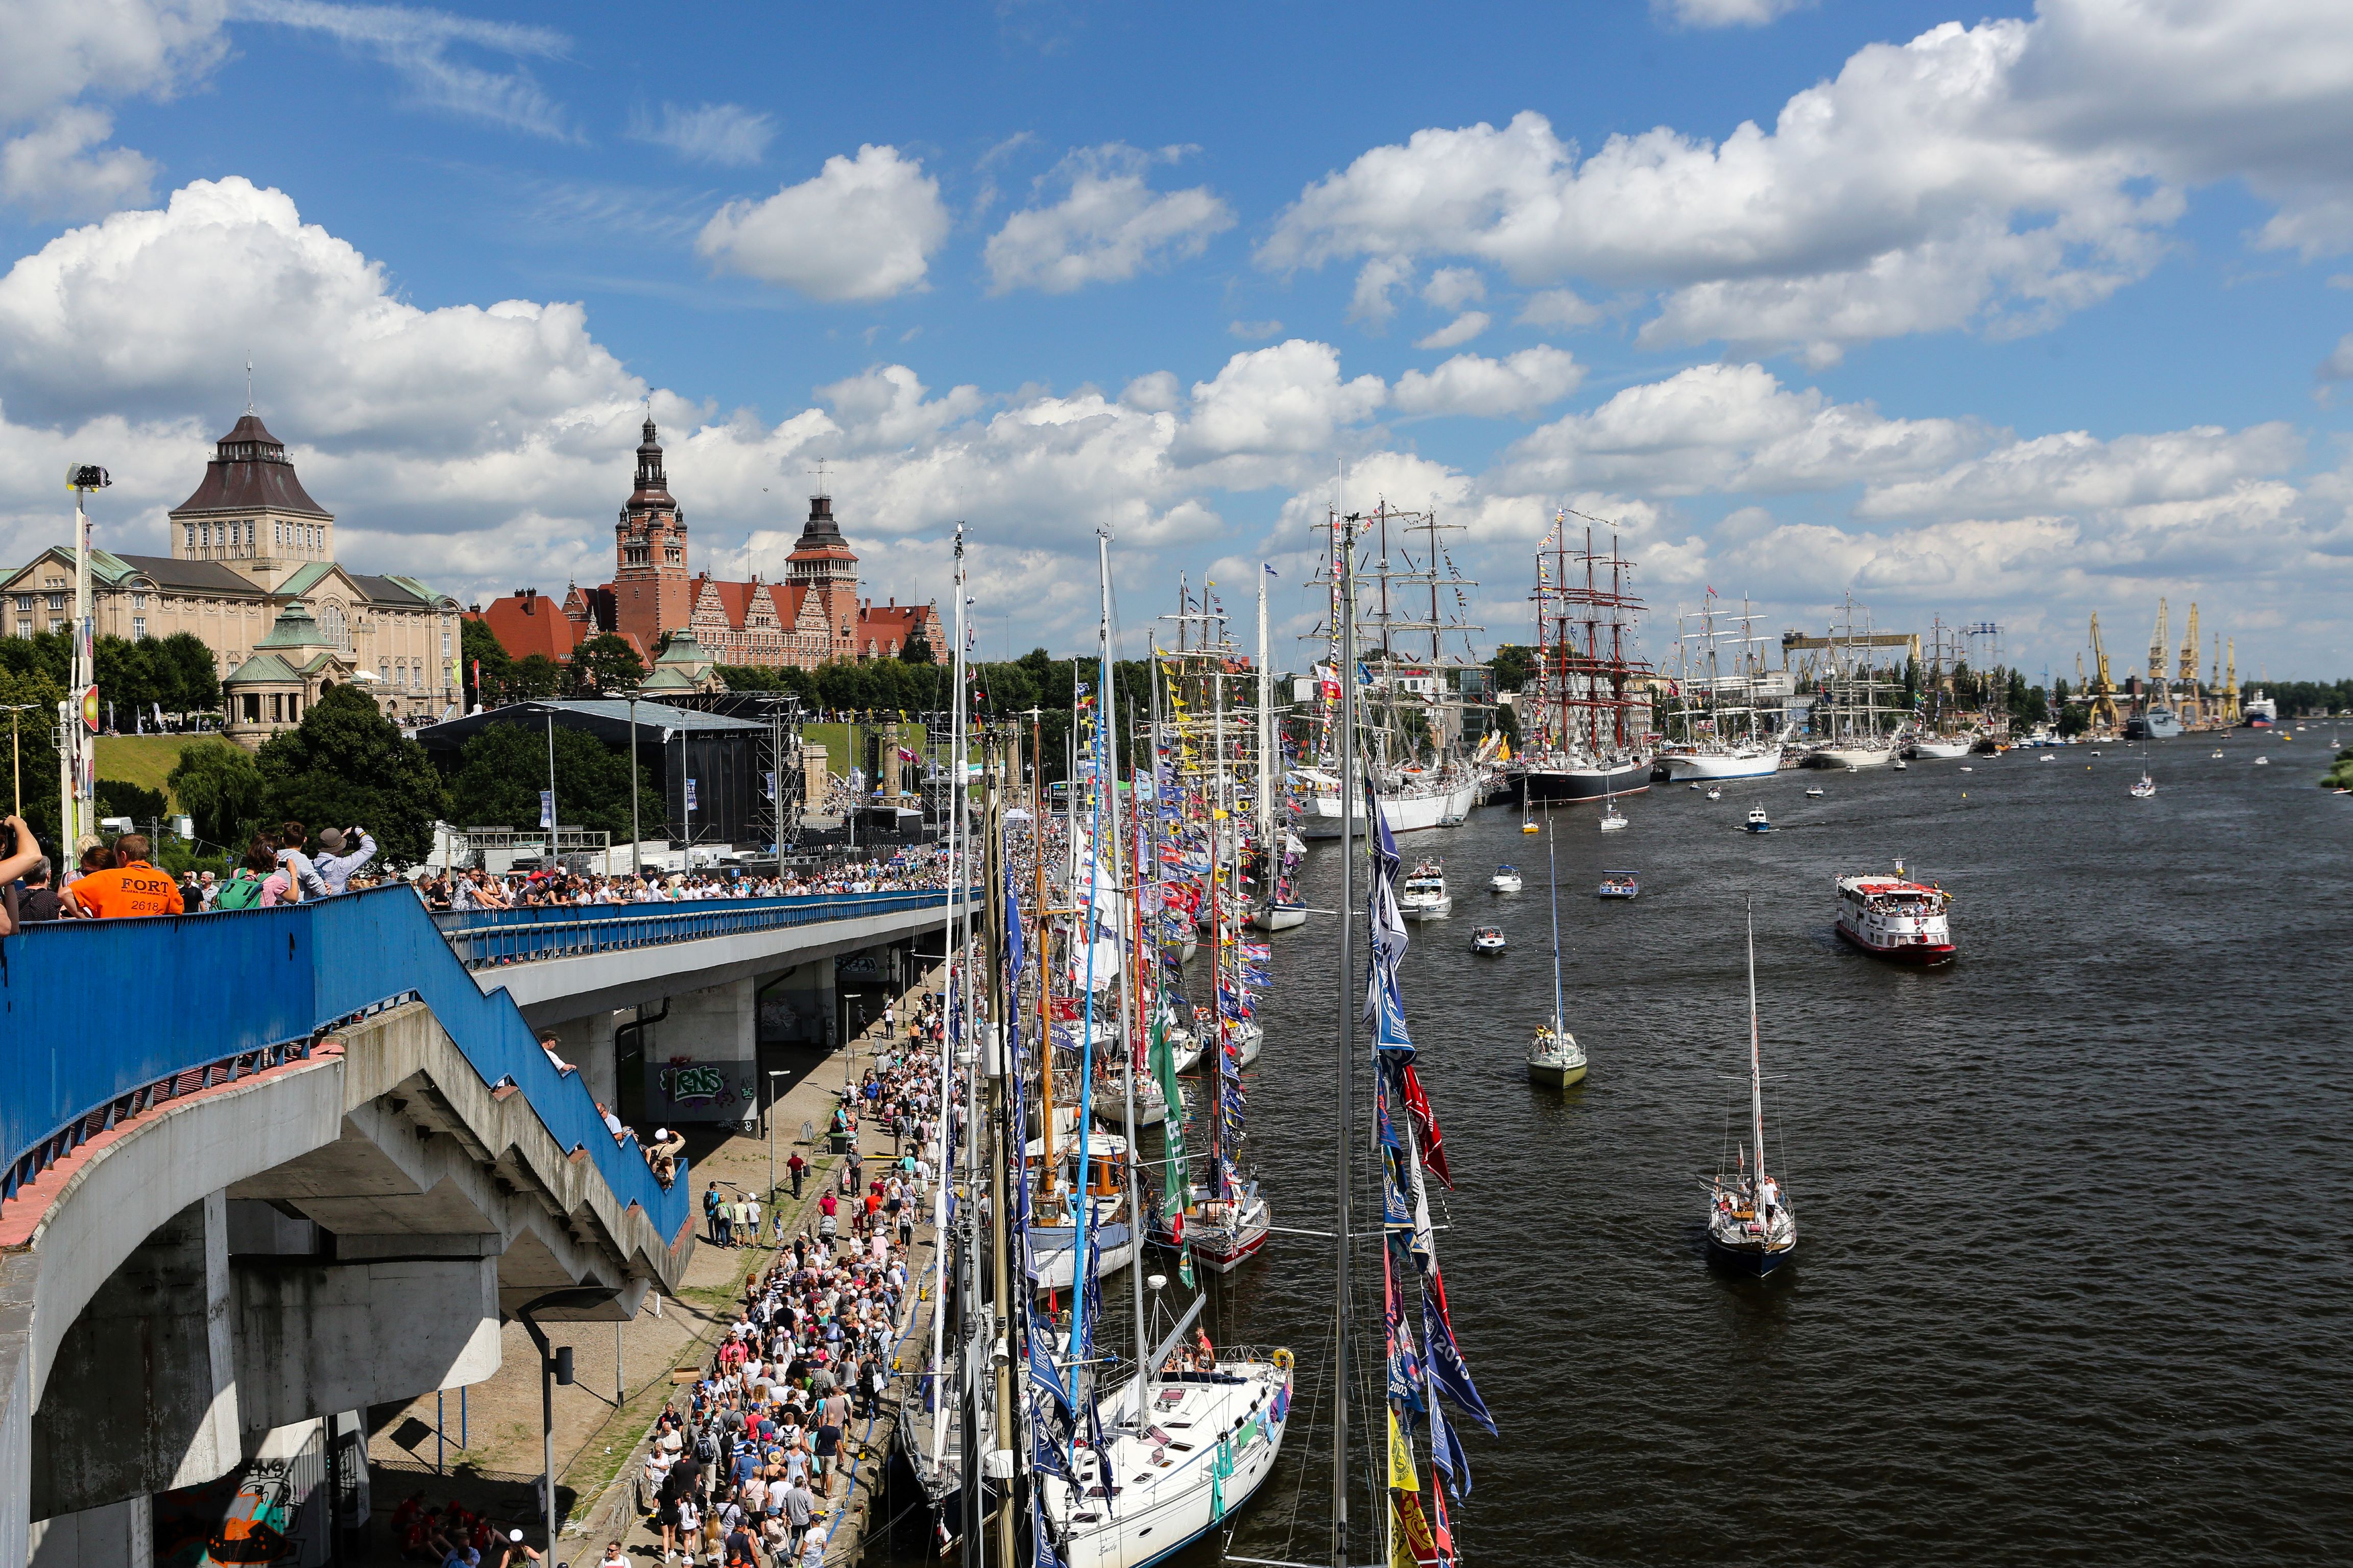
<svg viewBox="0 0 2353 1568"><path fill-rule="evenodd" d="M605 581L652 397L696 564L824 456L878 595L969 520L991 656L1087 639L1099 524L1129 621L1297 585L1346 461L1487 639L1572 505L1659 609L2353 663L2344 7L7 9L0 555L68 449L160 548L252 353L346 557L466 597Z"/></svg>

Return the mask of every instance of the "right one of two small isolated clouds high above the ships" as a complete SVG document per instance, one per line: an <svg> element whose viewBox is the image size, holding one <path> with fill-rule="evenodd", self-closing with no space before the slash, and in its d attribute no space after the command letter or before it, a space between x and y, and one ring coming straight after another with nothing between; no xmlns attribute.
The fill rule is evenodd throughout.
<svg viewBox="0 0 2353 1568"><path fill-rule="evenodd" d="M1174 158L1174 150L1162 155ZM1233 228L1233 209L1207 186L1153 190L1151 153L1111 143L1066 158L1054 183L1059 202L1026 207L988 237L988 287L1071 294L1089 282L1120 282L1148 266L1198 256Z"/></svg>

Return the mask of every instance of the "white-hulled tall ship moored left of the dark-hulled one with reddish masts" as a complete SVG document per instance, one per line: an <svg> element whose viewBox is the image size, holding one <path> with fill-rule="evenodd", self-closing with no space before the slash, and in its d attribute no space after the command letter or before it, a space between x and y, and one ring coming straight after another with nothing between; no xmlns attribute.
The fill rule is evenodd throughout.
<svg viewBox="0 0 2353 1568"><path fill-rule="evenodd" d="M1329 555L1318 567L1318 581L1329 588L1332 599L1315 635L1329 639L1334 651L1315 668L1315 703L1308 719L1313 745L1306 748L1315 759L1292 773L1299 792L1299 837L1341 835L1344 790L1334 759L1346 752L1337 731L1341 679L1348 672L1358 682L1360 745L1369 752L1362 764L1381 792L1388 830L1452 827L1480 804L1482 764L1464 750L1464 698L1449 682L1452 670L1478 663L1471 658L1468 635L1485 630L1461 614L1468 607L1464 588L1478 583L1454 569L1442 538L1461 527L1438 522L1435 510L1407 512L1386 501L1372 512L1329 510ZM1419 548L1414 536L1421 538ZM1355 625L1362 644L1355 658L1341 658L1337 651L1344 578L1353 583L1351 592L1360 595ZM1447 595L1454 599L1452 614L1442 604ZM1426 656L1424 637L1428 637ZM1461 654L1447 649L1449 637L1464 639ZM1362 792L1348 795L1355 799L1351 832L1365 832Z"/></svg>

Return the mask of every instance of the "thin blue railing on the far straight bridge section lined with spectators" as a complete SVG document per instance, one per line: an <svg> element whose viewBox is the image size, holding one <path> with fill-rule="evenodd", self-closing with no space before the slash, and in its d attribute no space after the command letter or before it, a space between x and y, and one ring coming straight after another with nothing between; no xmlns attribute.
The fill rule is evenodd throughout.
<svg viewBox="0 0 2353 1568"><path fill-rule="evenodd" d="M944 889L908 893L819 893L809 898L711 898L699 903L621 903L558 910L456 910L433 924L466 969L572 959L626 947L751 936L835 919L873 919L944 910Z"/></svg>

